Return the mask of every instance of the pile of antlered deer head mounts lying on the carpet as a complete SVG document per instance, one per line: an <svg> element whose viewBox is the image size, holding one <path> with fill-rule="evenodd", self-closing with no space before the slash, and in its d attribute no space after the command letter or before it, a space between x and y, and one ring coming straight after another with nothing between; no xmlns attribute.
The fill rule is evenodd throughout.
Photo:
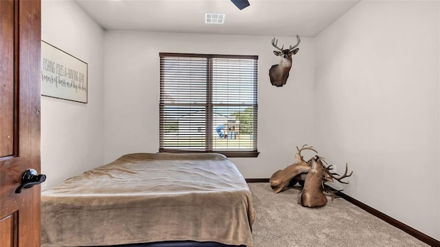
<svg viewBox="0 0 440 247"><path fill-rule="evenodd" d="M292 186L296 184L296 182L300 182L301 186L303 186L303 191L301 192L300 197L298 197L298 204L307 207L324 206L327 204L325 193L331 196L331 200L336 197L335 192L326 188L324 183L336 180L343 184L348 184L348 182L344 182L342 179L353 175L353 171L351 171L350 174L347 174L348 164L346 164L343 175L333 173L331 172L331 170L333 170L333 165L325 166L327 162L325 162L324 158L318 155L315 155L307 162L304 160L301 151L311 150L318 153L313 147L303 145L301 149L298 147L296 147L296 149L298 150L298 153L296 153L295 157L298 162L272 174L272 177L269 180L270 186L275 193L279 193L286 189L287 186Z"/></svg>

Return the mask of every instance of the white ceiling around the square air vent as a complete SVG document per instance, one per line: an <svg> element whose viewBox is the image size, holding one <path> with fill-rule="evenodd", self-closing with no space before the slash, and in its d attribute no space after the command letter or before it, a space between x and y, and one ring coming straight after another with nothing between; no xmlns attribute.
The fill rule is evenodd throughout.
<svg viewBox="0 0 440 247"><path fill-rule="evenodd" d="M102 28L148 32L314 37L360 0L76 0ZM206 24L205 13L225 14Z"/></svg>

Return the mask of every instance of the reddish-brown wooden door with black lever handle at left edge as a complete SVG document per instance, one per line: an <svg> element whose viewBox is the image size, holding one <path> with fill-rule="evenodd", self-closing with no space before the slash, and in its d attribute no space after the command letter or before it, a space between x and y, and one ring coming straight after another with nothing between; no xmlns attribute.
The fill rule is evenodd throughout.
<svg viewBox="0 0 440 247"><path fill-rule="evenodd" d="M0 246L40 246L40 0L0 0Z"/></svg>

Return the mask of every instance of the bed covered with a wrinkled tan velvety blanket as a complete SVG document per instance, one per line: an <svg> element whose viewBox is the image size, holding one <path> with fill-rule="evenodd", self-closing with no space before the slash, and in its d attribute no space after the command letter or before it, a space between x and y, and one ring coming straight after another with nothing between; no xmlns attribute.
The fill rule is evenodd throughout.
<svg viewBox="0 0 440 247"><path fill-rule="evenodd" d="M41 246L252 246L252 193L217 153L133 153L41 194Z"/></svg>

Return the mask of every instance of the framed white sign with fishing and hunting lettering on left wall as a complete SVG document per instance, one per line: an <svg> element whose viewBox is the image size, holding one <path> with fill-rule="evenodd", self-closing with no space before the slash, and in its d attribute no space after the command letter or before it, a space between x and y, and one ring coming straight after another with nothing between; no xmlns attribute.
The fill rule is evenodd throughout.
<svg viewBox="0 0 440 247"><path fill-rule="evenodd" d="M41 95L87 103L84 61L41 41Z"/></svg>

